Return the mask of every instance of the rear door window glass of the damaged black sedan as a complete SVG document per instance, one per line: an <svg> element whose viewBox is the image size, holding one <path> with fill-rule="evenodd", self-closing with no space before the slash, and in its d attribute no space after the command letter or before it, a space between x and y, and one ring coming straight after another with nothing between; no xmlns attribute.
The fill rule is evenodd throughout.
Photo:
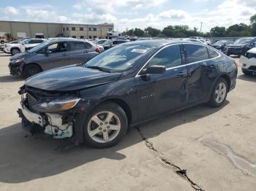
<svg viewBox="0 0 256 191"><path fill-rule="evenodd" d="M187 50L187 63L195 63L209 59L208 51L205 46L196 44L184 44Z"/></svg>

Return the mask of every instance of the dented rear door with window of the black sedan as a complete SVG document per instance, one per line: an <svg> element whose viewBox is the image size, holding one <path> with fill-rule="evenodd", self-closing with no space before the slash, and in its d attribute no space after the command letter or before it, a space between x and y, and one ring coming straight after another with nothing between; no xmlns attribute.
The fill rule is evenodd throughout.
<svg viewBox="0 0 256 191"><path fill-rule="evenodd" d="M200 104L208 101L211 87L219 75L220 55L203 44L184 44L188 70L188 104ZM208 54L210 52L210 56Z"/></svg>

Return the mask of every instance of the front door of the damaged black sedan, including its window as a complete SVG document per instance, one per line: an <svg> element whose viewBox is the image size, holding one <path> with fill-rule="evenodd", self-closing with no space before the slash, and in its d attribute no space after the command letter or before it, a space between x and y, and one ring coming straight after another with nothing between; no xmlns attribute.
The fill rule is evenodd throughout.
<svg viewBox="0 0 256 191"><path fill-rule="evenodd" d="M146 67L165 66L165 73L139 74L135 77L138 90L138 117L141 120L178 109L185 104L187 67L182 65L181 55L181 45L165 47L146 64Z"/></svg>

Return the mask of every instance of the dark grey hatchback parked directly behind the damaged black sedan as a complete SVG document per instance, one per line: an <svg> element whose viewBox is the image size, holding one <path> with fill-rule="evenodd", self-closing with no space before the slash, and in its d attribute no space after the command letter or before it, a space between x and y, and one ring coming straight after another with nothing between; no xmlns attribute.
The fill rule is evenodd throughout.
<svg viewBox="0 0 256 191"><path fill-rule="evenodd" d="M49 40L12 56L10 74L27 78L48 69L89 61L98 53L98 48L90 42L76 39Z"/></svg>

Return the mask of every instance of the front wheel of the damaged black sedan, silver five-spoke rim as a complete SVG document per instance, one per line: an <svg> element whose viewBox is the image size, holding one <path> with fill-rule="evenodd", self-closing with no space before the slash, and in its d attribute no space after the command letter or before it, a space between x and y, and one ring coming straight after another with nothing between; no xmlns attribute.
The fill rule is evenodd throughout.
<svg viewBox="0 0 256 191"><path fill-rule="evenodd" d="M83 139L94 148L112 147L124 138L128 129L127 115L118 104L107 102L86 118Z"/></svg>

